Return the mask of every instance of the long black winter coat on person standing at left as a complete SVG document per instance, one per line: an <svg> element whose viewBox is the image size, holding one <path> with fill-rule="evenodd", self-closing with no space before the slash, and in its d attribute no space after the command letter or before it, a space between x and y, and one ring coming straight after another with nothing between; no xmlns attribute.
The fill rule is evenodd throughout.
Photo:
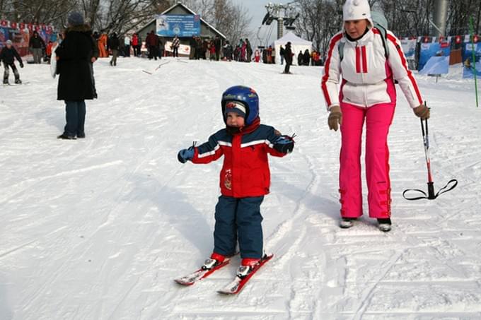
<svg viewBox="0 0 481 320"><path fill-rule="evenodd" d="M76 25L65 32L65 39L55 53L59 57L57 100L81 101L93 99L91 58L92 31L88 25Z"/></svg>

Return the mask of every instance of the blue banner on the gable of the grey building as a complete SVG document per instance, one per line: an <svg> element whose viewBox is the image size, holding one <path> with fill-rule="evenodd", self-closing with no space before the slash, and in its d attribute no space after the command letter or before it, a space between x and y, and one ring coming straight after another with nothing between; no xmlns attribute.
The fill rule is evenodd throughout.
<svg viewBox="0 0 481 320"><path fill-rule="evenodd" d="M192 37L200 35L200 16L164 14L156 16L156 31L161 37Z"/></svg>

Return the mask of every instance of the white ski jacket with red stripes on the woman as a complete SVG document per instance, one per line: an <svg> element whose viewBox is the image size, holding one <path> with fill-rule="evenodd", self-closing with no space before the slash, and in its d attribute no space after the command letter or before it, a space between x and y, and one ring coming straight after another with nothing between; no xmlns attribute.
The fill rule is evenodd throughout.
<svg viewBox="0 0 481 320"><path fill-rule="evenodd" d="M407 68L400 41L392 32L387 32L389 54L386 58L381 37L379 30L370 28L357 41L348 40L343 32L331 38L321 81L328 109L340 105L340 100L358 107L395 102L393 78L398 81L412 108L422 105L419 88ZM342 61L339 42L344 42Z"/></svg>

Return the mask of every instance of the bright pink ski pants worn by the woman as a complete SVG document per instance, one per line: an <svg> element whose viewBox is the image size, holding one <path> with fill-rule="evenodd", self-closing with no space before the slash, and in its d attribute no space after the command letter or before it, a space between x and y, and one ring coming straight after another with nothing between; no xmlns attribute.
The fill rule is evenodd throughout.
<svg viewBox="0 0 481 320"><path fill-rule="evenodd" d="M340 203L343 218L362 215L361 137L366 121L366 181L369 217L390 217L388 132L395 102L372 107L341 103Z"/></svg>

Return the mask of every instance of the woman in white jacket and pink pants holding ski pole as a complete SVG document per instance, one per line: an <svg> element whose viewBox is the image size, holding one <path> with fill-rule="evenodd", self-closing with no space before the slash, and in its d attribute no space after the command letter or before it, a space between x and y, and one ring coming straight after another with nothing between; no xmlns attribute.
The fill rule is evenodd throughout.
<svg viewBox="0 0 481 320"><path fill-rule="evenodd" d="M344 30L330 40L321 87L328 107L329 128L341 129L340 227L352 227L362 214L361 136L366 122L366 179L369 217L379 229L391 229L388 131L396 105L398 81L417 117L429 118L419 88L402 52L400 41L387 32L384 49L381 32L373 27L367 0L347 0ZM340 42L344 44L340 59ZM340 76L342 76L341 90Z"/></svg>

